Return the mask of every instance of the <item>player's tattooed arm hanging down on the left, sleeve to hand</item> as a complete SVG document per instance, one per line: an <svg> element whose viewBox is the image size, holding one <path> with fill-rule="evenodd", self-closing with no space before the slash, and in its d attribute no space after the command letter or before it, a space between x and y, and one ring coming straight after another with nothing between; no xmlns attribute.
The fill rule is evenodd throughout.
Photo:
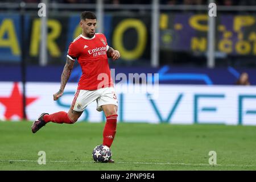
<svg viewBox="0 0 256 182"><path fill-rule="evenodd" d="M64 88L68 82L68 79L71 75L73 66L74 66L75 61L69 59L67 57L67 62L65 64L65 67L63 69L63 72L61 74L61 81L60 81L60 90L59 92L53 94L53 100L56 101L59 97L61 97L63 95L64 92Z"/></svg>

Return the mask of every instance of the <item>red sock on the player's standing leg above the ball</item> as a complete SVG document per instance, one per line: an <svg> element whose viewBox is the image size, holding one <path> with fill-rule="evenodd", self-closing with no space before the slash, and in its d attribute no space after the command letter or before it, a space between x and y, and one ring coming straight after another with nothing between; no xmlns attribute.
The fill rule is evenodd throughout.
<svg viewBox="0 0 256 182"><path fill-rule="evenodd" d="M106 124L103 131L103 144L110 147L117 132L117 114L108 115L106 117Z"/></svg>

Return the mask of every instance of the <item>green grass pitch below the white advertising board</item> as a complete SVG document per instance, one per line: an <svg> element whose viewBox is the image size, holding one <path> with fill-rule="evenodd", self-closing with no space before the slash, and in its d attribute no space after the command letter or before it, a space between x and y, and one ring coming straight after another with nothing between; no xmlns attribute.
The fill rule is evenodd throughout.
<svg viewBox="0 0 256 182"><path fill-rule="evenodd" d="M115 163L94 163L104 123L0 122L0 170L255 170L256 127L118 123ZM38 152L46 152L46 165ZM210 166L209 151L217 152Z"/></svg>

